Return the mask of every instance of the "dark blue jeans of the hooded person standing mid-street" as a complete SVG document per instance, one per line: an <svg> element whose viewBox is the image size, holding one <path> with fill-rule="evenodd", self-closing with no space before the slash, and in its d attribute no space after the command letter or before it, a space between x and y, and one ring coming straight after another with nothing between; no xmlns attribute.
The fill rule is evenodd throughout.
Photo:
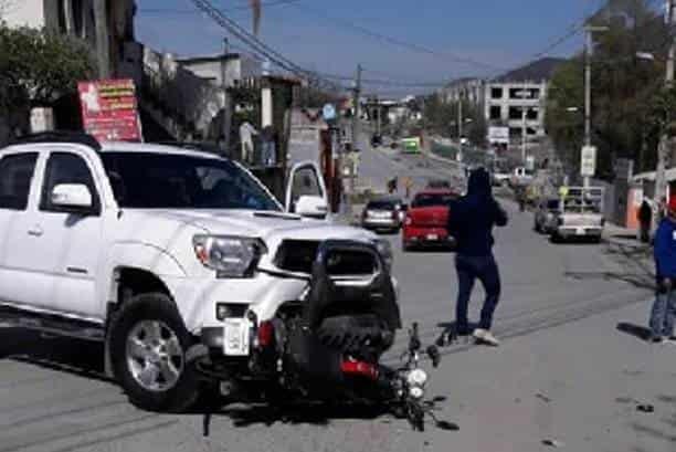
<svg viewBox="0 0 676 452"><path fill-rule="evenodd" d="M486 292L486 301L482 308L482 318L478 327L490 329L493 314L500 297L500 274L493 255L455 256L455 270L457 271L457 305L455 306L455 325L461 335L469 334L467 312L469 309L469 297L474 288L474 282L478 278Z"/></svg>

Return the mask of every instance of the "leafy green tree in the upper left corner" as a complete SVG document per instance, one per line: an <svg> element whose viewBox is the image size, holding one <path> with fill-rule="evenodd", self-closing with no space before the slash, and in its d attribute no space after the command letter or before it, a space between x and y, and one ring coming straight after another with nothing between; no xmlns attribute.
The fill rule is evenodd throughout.
<svg viewBox="0 0 676 452"><path fill-rule="evenodd" d="M0 0L1 1L1 0ZM94 75L89 48L74 38L0 23L0 115L51 106Z"/></svg>

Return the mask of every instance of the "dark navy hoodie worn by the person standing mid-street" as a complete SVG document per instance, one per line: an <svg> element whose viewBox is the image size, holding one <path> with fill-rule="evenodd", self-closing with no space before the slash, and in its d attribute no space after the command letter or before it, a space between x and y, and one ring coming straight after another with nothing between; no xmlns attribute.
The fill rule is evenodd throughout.
<svg viewBox="0 0 676 452"><path fill-rule="evenodd" d="M493 199L490 176L484 168L472 171L467 195L448 206L448 232L457 242L457 254L492 255L493 227L506 224L507 213Z"/></svg>

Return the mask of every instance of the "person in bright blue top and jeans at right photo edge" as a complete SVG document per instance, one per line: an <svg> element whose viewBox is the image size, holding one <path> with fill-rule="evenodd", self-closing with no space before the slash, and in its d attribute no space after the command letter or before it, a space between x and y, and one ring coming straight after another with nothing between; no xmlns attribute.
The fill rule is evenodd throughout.
<svg viewBox="0 0 676 452"><path fill-rule="evenodd" d="M676 317L676 198L669 200L667 216L655 233L655 273L657 291L651 311L651 332L654 343L674 337Z"/></svg>

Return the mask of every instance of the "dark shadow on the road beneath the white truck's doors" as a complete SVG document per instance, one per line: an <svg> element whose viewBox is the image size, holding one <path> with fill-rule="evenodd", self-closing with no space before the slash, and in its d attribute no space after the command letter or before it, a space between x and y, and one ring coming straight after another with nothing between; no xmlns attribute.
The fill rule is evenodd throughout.
<svg viewBox="0 0 676 452"><path fill-rule="evenodd" d="M103 344L60 336L46 336L24 328L0 328L0 362L19 362L110 381L104 372Z"/></svg>

